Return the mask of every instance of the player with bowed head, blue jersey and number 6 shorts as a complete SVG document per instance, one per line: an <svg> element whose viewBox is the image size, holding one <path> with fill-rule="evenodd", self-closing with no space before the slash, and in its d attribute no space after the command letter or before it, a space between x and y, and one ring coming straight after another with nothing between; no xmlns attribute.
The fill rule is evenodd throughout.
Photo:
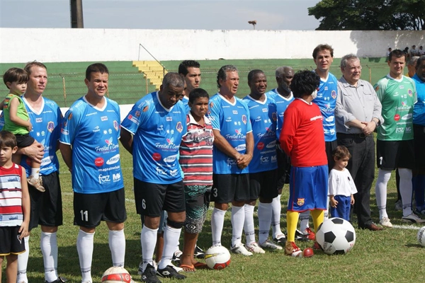
<svg viewBox="0 0 425 283"><path fill-rule="evenodd" d="M159 282L157 275L185 278L171 265L186 219L178 157L181 138L187 132L186 108L180 101L183 88L181 75L166 74L159 91L137 101L121 125L121 142L133 156L136 210L144 217L140 235L144 282ZM162 210L166 210L168 219L162 259L156 271L153 255Z"/></svg>

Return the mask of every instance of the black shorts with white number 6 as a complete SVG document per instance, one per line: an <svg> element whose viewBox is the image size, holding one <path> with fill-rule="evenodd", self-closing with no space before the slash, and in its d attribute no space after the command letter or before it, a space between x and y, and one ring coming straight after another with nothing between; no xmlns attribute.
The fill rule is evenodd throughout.
<svg viewBox="0 0 425 283"><path fill-rule="evenodd" d="M161 212L184 212L183 180L168 185L143 182L134 178L135 202L137 214L159 217Z"/></svg>

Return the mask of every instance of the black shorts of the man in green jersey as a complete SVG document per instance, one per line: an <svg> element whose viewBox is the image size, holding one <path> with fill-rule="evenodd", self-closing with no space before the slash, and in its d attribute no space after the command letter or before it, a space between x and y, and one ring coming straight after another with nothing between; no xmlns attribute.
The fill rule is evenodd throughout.
<svg viewBox="0 0 425 283"><path fill-rule="evenodd" d="M376 163L382 170L414 168L414 140L376 141Z"/></svg>

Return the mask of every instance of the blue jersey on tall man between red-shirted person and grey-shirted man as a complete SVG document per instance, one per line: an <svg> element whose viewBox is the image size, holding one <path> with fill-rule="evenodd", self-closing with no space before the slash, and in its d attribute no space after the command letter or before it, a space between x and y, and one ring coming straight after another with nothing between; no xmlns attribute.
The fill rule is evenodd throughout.
<svg viewBox="0 0 425 283"><path fill-rule="evenodd" d="M320 79L317 98L313 100L322 112L324 141L334 141L336 139L335 128L335 105L338 95L338 80L329 73L326 80Z"/></svg>

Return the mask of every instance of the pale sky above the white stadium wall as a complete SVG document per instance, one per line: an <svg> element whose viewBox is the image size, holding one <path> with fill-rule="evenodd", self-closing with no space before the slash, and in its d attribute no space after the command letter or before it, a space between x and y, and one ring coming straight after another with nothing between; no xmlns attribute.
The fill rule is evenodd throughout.
<svg viewBox="0 0 425 283"><path fill-rule="evenodd" d="M84 28L314 30L318 0L82 0ZM70 28L69 0L0 0L0 28Z"/></svg>

